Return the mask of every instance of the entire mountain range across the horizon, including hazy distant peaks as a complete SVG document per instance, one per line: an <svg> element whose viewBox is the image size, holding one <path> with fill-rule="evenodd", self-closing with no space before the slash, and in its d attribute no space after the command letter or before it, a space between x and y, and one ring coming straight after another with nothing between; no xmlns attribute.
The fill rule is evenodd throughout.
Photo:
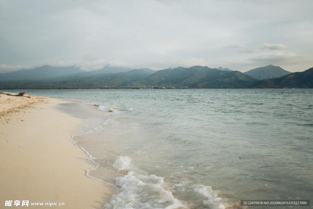
<svg viewBox="0 0 313 209"><path fill-rule="evenodd" d="M312 75L312 68L304 72L290 73L273 65L244 73L228 68L205 66L168 68L160 71L105 66L87 72L74 66L44 65L31 70L0 73L0 86L3 89L312 88ZM277 76L279 78L275 78ZM269 79L260 81L263 77Z"/></svg>

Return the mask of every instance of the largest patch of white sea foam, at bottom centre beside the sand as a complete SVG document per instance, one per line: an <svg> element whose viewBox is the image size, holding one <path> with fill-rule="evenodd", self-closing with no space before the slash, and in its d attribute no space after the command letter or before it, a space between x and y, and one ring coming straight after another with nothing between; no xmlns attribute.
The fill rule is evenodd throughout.
<svg viewBox="0 0 313 209"><path fill-rule="evenodd" d="M127 175L115 178L121 192L105 204L107 209L187 208L165 189L163 177L147 175L131 166L131 158L121 155L113 165L117 170L129 170Z"/></svg>

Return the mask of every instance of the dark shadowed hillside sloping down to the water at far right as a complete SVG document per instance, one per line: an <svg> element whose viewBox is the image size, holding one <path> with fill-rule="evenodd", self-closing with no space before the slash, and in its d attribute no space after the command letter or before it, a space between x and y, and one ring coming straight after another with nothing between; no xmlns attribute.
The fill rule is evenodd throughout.
<svg viewBox="0 0 313 209"><path fill-rule="evenodd" d="M280 78L258 81L249 88L313 88L313 68L290 73Z"/></svg>

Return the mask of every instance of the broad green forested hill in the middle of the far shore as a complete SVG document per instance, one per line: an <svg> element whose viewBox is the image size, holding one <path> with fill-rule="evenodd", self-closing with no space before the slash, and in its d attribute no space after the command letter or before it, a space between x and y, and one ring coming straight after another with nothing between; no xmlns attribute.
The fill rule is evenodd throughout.
<svg viewBox="0 0 313 209"><path fill-rule="evenodd" d="M193 66L177 67L157 71L153 75L135 81L129 87L188 87L188 88L230 88L247 86L257 80L239 71L220 71L216 68Z"/></svg>

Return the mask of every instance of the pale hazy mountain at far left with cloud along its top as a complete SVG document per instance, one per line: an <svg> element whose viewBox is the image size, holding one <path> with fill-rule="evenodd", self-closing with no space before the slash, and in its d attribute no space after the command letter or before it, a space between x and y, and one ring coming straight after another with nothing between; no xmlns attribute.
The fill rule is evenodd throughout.
<svg viewBox="0 0 313 209"><path fill-rule="evenodd" d="M71 67L53 67L44 65L31 70L22 69L9 73L0 73L0 81L20 81L20 80L43 80L59 76L68 76L74 73L83 72L80 68Z"/></svg>

